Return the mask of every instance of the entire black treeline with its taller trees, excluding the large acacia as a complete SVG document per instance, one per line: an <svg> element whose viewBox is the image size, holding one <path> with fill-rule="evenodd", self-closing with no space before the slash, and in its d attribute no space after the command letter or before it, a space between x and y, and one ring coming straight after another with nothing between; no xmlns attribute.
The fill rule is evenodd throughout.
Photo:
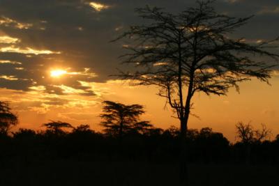
<svg viewBox="0 0 279 186"><path fill-rule="evenodd" d="M149 121L141 121L144 109L139 104L103 102L100 114L103 132L89 125L73 127L70 123L50 121L45 130L20 129L17 116L6 102L0 102L0 160L80 160L80 161L151 161L176 162L181 155L180 130L163 130ZM250 123L236 124L236 144L209 127L188 129L186 134L188 162L201 163L279 163L279 135L269 140L271 131L265 125L255 130Z"/></svg>

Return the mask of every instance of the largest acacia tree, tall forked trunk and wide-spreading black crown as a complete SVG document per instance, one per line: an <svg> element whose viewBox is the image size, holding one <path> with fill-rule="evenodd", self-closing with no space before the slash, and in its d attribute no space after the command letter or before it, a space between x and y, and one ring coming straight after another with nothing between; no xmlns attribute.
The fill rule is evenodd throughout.
<svg viewBox="0 0 279 186"><path fill-rule="evenodd" d="M116 38L125 40L128 50L121 56L123 63L137 68L119 77L134 80L133 85L158 86L158 95L166 98L179 118L181 183L187 180L186 134L193 95L226 95L231 87L239 91L238 83L252 77L269 83L274 64L265 60L278 60L278 54L267 49L274 40L249 43L229 36L252 16L220 15L212 2L197 1L196 8L175 15L161 8L138 8L145 23L130 26Z"/></svg>

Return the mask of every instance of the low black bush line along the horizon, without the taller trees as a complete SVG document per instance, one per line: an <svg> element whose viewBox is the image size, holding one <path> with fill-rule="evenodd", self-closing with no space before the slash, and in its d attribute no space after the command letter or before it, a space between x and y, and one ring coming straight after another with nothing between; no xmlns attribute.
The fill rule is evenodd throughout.
<svg viewBox="0 0 279 186"><path fill-rule="evenodd" d="M249 146L229 141L209 127L189 130L188 161L202 163L278 163L279 138L274 141L251 141ZM66 132L59 128L35 132L20 129L12 136L1 134L0 159L34 160L75 159L81 161L152 161L176 162L179 157L179 130L151 128L130 131L119 137L95 132L80 125Z"/></svg>

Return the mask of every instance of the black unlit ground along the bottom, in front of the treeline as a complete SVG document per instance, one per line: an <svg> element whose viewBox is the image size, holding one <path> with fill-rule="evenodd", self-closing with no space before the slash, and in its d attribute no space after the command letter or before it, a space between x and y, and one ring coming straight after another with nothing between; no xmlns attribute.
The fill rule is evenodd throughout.
<svg viewBox="0 0 279 186"><path fill-rule="evenodd" d="M273 165L190 164L190 185L278 185ZM1 186L179 185L174 163L45 161L1 162Z"/></svg>

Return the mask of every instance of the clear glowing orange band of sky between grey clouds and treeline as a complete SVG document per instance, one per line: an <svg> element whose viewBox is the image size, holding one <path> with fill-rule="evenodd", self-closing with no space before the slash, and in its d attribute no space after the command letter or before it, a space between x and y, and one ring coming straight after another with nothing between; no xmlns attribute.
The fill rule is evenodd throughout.
<svg viewBox="0 0 279 186"><path fill-rule="evenodd" d="M193 98L193 114L199 118L190 116L189 127L212 127L214 131L223 132L225 137L234 141L234 125L238 121L252 121L255 127L260 127L261 123L266 124L275 137L279 134L279 77L274 76L271 84L272 86L269 86L254 79L242 83L240 93L234 88L227 96L221 97L197 93ZM164 109L165 100L156 95L157 88L154 86L129 86L121 81L87 83L87 86L91 86L98 95L48 95L40 90L23 93L1 89L0 100L9 100L14 111L20 116L20 125L17 128L42 130L42 123L60 120L73 125L88 123L94 130L101 130L98 115L102 100L142 104L146 109L142 118L148 119L156 127L179 127L179 121L172 118L174 115L171 109Z"/></svg>

